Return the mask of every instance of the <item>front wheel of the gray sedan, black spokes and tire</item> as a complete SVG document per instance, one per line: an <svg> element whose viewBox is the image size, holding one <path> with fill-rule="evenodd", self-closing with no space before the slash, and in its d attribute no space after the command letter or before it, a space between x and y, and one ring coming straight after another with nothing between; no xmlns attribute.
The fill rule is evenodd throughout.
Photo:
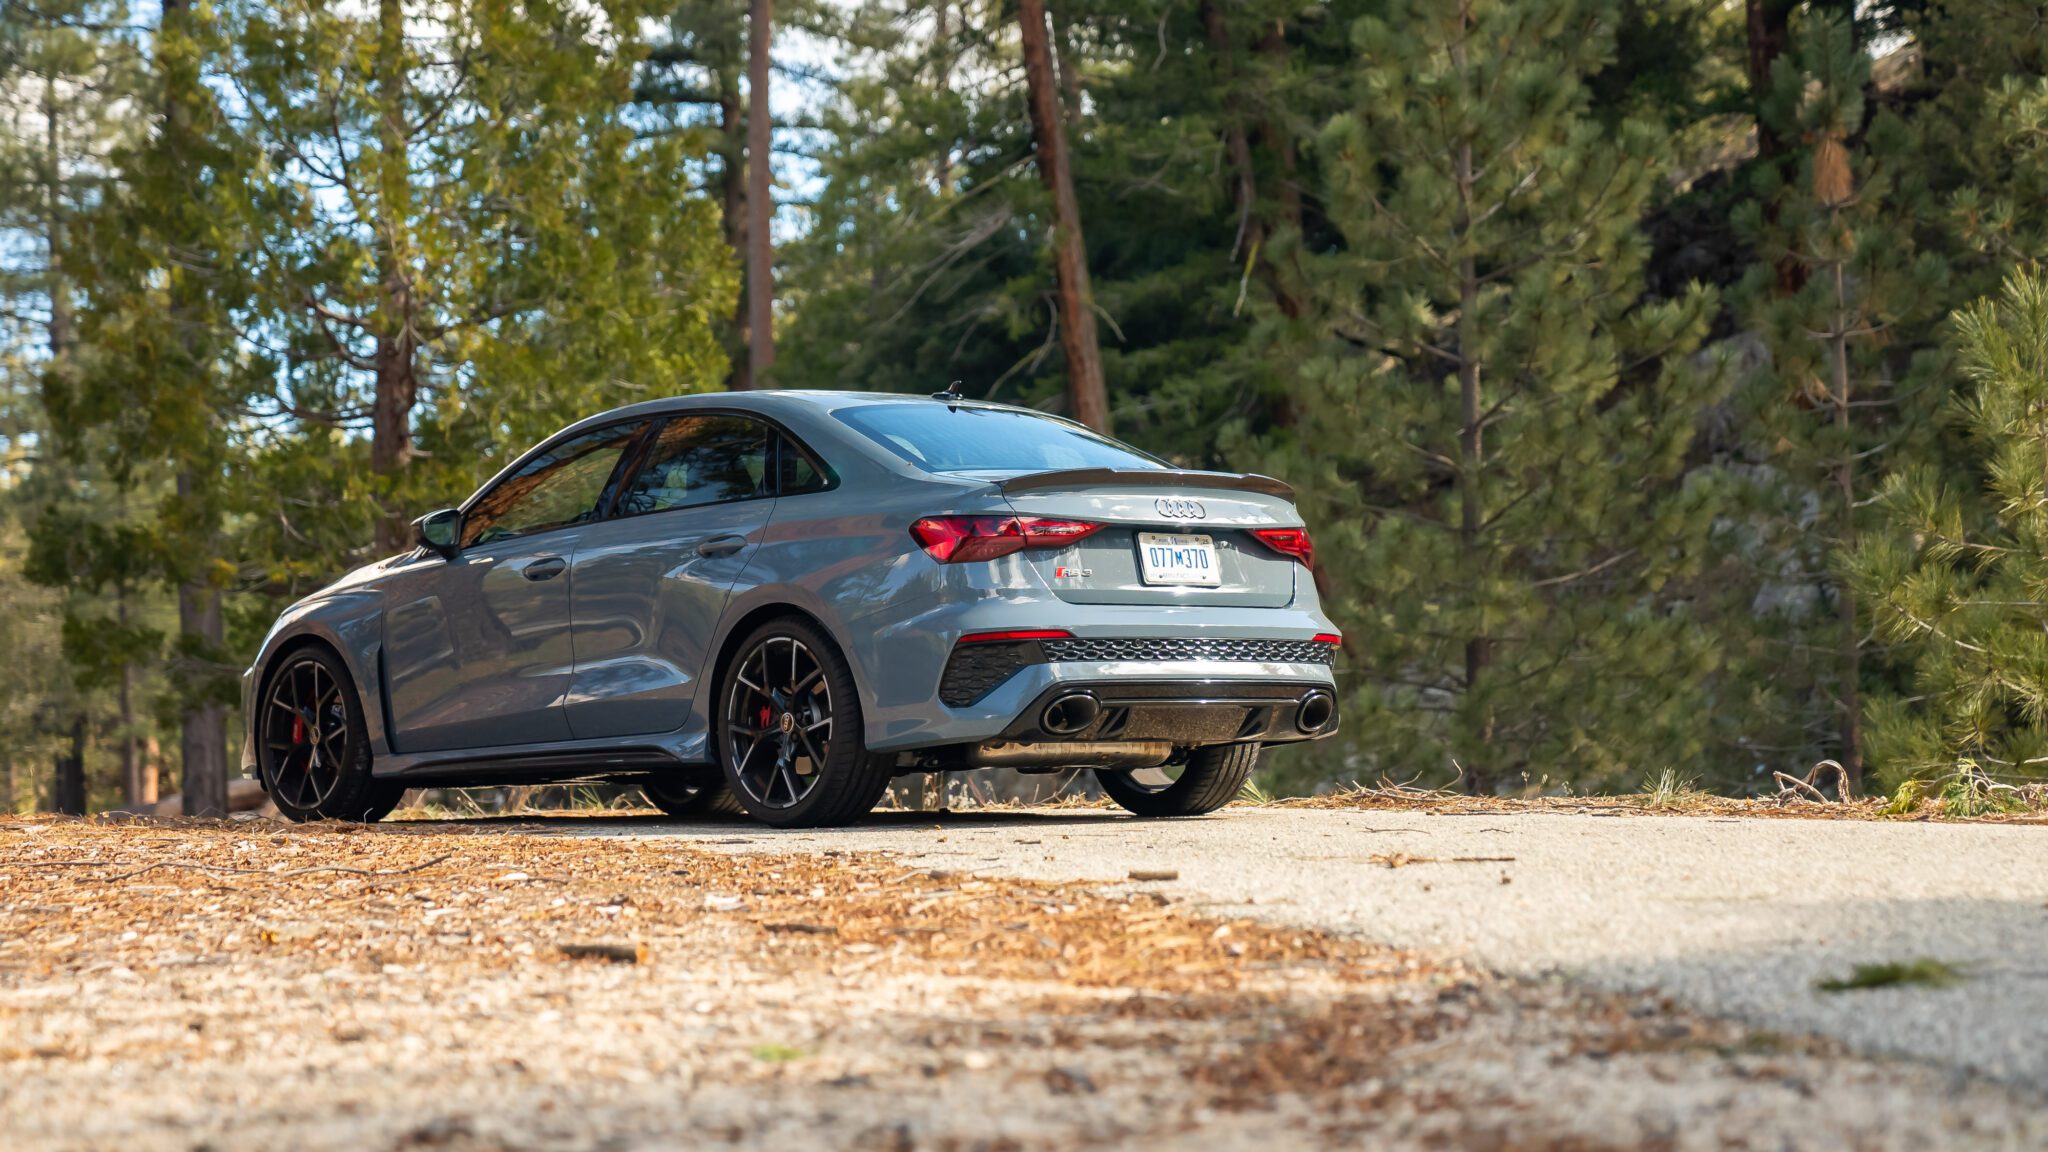
<svg viewBox="0 0 2048 1152"><path fill-rule="evenodd" d="M289 652L256 707L256 769L287 820L375 824L406 795L401 785L371 779L362 699L334 652Z"/></svg>

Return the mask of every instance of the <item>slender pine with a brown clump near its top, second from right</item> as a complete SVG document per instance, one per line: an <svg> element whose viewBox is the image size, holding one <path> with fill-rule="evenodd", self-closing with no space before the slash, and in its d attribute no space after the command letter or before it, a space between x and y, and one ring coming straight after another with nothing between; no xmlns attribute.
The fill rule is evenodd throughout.
<svg viewBox="0 0 2048 1152"><path fill-rule="evenodd" d="M1839 560L1858 547L1884 471L1931 447L1939 359L1919 344L1946 291L1944 262L1915 248L1923 193L1911 133L1890 113L1870 115L1868 80L1849 23L1817 14L1794 29L1763 115L1800 148L1755 170L1755 199L1737 217L1759 260L1739 295L1769 355L1749 414L1769 435L1782 498L1780 535L1763 551L1798 558L1778 582L1817 586L1821 599L1808 613L1800 596L1772 596L1784 640L1759 674L1804 695L1812 724L1831 730L1821 748L1851 787L1872 672Z"/></svg>

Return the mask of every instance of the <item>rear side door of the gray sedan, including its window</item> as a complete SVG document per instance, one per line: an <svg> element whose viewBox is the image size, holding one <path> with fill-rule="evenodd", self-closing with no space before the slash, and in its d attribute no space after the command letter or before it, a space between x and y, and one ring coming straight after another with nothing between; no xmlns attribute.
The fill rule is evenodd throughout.
<svg viewBox="0 0 2048 1152"><path fill-rule="evenodd" d="M612 517L582 533L567 705L580 740L674 732L690 715L719 613L774 512L772 445L750 416L672 416Z"/></svg>

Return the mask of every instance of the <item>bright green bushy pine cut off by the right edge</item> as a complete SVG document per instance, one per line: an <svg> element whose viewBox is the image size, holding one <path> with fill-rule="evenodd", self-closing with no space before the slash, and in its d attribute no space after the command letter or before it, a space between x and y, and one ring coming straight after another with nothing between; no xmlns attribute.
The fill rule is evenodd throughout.
<svg viewBox="0 0 2048 1152"><path fill-rule="evenodd" d="M1909 701L1872 709L1888 785L1958 767L2048 777L2048 279L2017 271L1956 316L1962 375L1952 418L1968 478L1892 476L1882 529L1853 558L1876 625L1913 656Z"/></svg>

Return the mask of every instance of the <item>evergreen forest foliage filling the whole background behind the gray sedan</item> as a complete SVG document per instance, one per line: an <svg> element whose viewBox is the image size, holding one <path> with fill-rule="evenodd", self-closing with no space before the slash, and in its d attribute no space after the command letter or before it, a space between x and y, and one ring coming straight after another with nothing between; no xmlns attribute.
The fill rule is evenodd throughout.
<svg viewBox="0 0 2048 1152"><path fill-rule="evenodd" d="M213 781L283 603L745 379L754 8L0 4L0 760ZM1108 422L1348 633L1274 791L2038 775L2048 0L1044 10ZM776 6L774 383L1069 408L1018 12Z"/></svg>

